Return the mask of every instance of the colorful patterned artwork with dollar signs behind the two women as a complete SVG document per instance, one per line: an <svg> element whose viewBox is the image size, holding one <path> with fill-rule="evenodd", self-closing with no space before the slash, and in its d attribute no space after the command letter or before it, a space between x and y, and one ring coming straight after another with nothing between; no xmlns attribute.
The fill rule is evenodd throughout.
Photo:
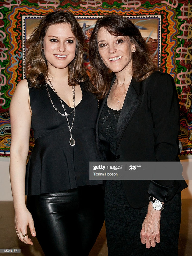
<svg viewBox="0 0 192 256"><path fill-rule="evenodd" d="M10 154L9 105L17 83L23 79L25 47L39 19L58 9L71 11L86 42L99 16L116 13L130 18L140 29L157 65L176 83L181 112L181 154L192 154L192 4L188 0L4 0L0 1L0 156ZM89 56L85 47L85 65ZM34 145L30 136L30 149ZM139 145L138 145L139 147Z"/></svg>

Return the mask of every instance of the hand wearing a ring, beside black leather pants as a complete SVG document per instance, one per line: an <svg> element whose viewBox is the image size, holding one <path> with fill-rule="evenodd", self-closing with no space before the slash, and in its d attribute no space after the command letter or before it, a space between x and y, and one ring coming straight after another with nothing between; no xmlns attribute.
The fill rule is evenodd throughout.
<svg viewBox="0 0 192 256"><path fill-rule="evenodd" d="M22 236L22 234L24 235L27 233L27 226L29 226L32 236L36 236L33 218L27 208L22 211L15 211L15 229L18 238L25 244L33 245L33 242L28 235L25 237Z"/></svg>

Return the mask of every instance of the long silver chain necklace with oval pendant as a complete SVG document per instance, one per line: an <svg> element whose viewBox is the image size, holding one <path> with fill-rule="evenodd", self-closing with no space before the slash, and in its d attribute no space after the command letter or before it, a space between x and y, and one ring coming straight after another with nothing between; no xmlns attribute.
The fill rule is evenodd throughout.
<svg viewBox="0 0 192 256"><path fill-rule="evenodd" d="M66 117L66 120L67 120L67 123L68 123L68 126L69 126L69 132L70 132L69 144L70 144L71 146L74 146L74 145L75 145L75 140L74 140L73 137L72 137L72 132L71 132L71 131L72 131L73 122L74 122L74 118L75 118L75 86L74 86L74 85L72 86L72 90L73 90L73 106L74 106L74 108L73 108L73 110L71 111L71 113L73 113L73 112L74 112L74 113L73 113L72 124L71 124L71 126L70 126L69 120L68 120L68 116L69 116L71 113L69 113L69 114L66 113L66 110L65 110L65 107L64 107L64 105L63 105L63 102L62 102L61 98L59 97L59 95L57 94L57 92L55 91L55 89L54 89L54 87L53 87L53 85L52 85L52 83L51 83L51 81L50 81L50 79L49 79L48 76L47 76L47 80L49 81L49 84L50 84L51 87L53 88L53 91L55 92L55 94L56 94L57 97L59 98L60 103L61 103L61 105L62 105L62 107L63 107L63 110L64 110L65 114L61 114L60 111L58 111L57 108L55 108L55 105L53 104L53 101L52 101L52 99L51 99L51 96L50 96L50 93L49 93L49 90L48 90L48 86L47 86L47 83L46 83L46 88L47 88L47 92L48 92L48 95L49 95L49 99L50 99L50 101L51 101L51 104L52 104L53 108L54 108L61 116L65 116L65 117Z"/></svg>

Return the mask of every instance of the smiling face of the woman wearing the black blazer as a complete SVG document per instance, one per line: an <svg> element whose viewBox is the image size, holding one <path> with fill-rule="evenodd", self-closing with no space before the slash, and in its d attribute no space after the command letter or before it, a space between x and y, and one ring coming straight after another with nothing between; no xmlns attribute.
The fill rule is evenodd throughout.
<svg viewBox="0 0 192 256"><path fill-rule="evenodd" d="M132 52L135 51L128 36L111 35L105 28L97 34L99 54L105 66L111 71L132 74Z"/></svg>

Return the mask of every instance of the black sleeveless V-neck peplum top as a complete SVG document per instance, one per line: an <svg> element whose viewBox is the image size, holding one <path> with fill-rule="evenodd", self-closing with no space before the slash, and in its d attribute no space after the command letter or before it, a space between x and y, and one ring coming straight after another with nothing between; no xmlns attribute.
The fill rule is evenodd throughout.
<svg viewBox="0 0 192 256"><path fill-rule="evenodd" d="M84 185L101 184L101 180L89 180L89 161L101 161L96 149L95 127L98 115L97 99L80 84L82 100L76 106L72 137L65 116L52 106L46 86L29 87L32 109L31 126L35 146L26 168L26 195L59 192ZM61 102L53 89L48 90L55 108L64 113ZM63 101L69 114L70 108ZM71 125L73 113L68 116Z"/></svg>

